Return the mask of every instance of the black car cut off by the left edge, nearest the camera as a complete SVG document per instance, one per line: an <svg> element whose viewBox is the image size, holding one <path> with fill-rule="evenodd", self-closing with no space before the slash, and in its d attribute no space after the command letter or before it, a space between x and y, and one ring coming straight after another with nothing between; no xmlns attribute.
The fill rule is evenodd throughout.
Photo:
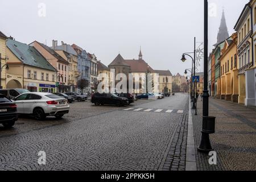
<svg viewBox="0 0 256 182"><path fill-rule="evenodd" d="M5 95L0 94L0 123L4 127L13 127L18 120L17 106Z"/></svg>

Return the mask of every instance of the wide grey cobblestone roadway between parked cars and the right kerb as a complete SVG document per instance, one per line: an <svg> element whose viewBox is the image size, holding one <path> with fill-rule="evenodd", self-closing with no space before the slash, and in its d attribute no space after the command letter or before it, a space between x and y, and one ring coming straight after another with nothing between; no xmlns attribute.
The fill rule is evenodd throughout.
<svg viewBox="0 0 256 182"><path fill-rule="evenodd" d="M34 120L20 119L24 125L15 132L0 131L0 170L184 170L187 105L188 94L177 94L129 107L183 113L76 103L63 121L42 122L50 125L35 129ZM39 151L46 152L45 166L38 164Z"/></svg>

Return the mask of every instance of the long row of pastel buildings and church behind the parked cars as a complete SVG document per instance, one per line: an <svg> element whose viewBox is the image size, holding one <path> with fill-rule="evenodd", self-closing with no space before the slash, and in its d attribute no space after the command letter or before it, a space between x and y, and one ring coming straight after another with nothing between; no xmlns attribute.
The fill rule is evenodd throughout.
<svg viewBox="0 0 256 182"><path fill-rule="evenodd" d="M21 43L14 38L7 37L0 31L0 56L1 56L1 88L23 88L31 92L97 92L98 84L106 78L98 75L105 73L109 79L109 85L113 84L111 69L118 73L124 73L127 78L129 73L135 75L152 74L152 86L154 92L172 92L173 76L169 70L154 70L143 60L142 52L138 59L125 60L119 54L108 66L97 60L94 54L90 54L76 44L59 45L52 40L52 46L34 41L30 44ZM159 80L154 80L155 75ZM141 79L140 78L140 79ZM86 86L80 85L80 80L86 80ZM154 82L158 82L154 86ZM174 76L174 84L181 88L186 82L184 76ZM143 93L142 80L139 80L139 88L133 89L133 93ZM115 83L117 84L117 82ZM82 90L81 90L82 88ZM104 88L102 88L104 89ZM180 90L179 90L180 91ZM187 91L186 91L187 92Z"/></svg>

